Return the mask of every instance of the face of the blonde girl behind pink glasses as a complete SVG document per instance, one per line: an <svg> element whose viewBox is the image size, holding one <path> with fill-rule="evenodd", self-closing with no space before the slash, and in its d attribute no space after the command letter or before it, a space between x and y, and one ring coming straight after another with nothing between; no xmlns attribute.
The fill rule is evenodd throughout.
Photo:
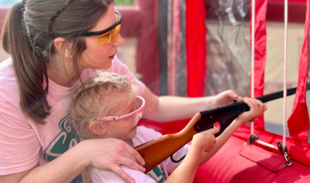
<svg viewBox="0 0 310 183"><path fill-rule="evenodd" d="M125 105L120 108L123 109L126 107ZM125 115L130 112L133 112L137 109L137 102L136 100L132 101L130 105L122 112L118 113L116 111L117 115ZM137 123L135 122L136 115L131 115L126 118L117 119L117 120L110 120L104 123L104 127L106 130L106 134L104 135L104 138L116 138L123 141L128 141L132 138L134 138L137 135ZM134 125L132 125L134 124Z"/></svg>

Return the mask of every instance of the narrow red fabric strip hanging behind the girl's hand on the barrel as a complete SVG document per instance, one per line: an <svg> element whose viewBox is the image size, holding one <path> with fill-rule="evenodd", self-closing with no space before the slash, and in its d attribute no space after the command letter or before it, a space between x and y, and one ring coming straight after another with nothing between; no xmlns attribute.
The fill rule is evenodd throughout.
<svg viewBox="0 0 310 183"><path fill-rule="evenodd" d="M267 0L255 1L255 64L254 64L254 96L259 97L264 93L264 72L266 63L266 12ZM252 5L251 13L252 15ZM251 16L252 17L252 16ZM252 18L251 18L252 19ZM252 20L250 21L250 30L252 31ZM251 37L250 37L251 39ZM250 45L252 40L250 40ZM264 117L257 118L256 128L264 129Z"/></svg>

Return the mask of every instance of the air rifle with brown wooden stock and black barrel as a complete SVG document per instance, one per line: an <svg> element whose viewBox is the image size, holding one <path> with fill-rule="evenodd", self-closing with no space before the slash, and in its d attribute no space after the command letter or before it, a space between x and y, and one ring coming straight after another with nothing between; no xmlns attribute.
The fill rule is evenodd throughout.
<svg viewBox="0 0 310 183"><path fill-rule="evenodd" d="M295 93L296 88L287 90L287 96ZM283 91L261 96L256 99L265 103L280 98L283 98ZM236 102L234 100L233 104L198 112L190 120L189 124L176 134L167 134L135 147L145 161L144 168L146 171L144 173L149 172L169 156L173 162L179 162L185 156L175 161L172 155L190 142L195 134L213 128L213 125L219 122L220 132L215 134L215 137L218 137L239 114L249 110L250 107L243 101Z"/></svg>

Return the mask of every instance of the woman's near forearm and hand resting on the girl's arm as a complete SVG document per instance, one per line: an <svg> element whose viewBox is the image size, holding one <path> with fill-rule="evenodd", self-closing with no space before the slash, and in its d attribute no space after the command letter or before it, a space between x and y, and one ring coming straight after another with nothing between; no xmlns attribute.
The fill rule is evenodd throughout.
<svg viewBox="0 0 310 183"><path fill-rule="evenodd" d="M119 165L144 172L145 169L137 162L140 165L145 164L139 153L121 140L84 140L45 165L39 166L38 163L21 173L1 175L0 182L70 182L88 165L92 165L112 171L127 183L132 183L134 179L119 168Z"/></svg>

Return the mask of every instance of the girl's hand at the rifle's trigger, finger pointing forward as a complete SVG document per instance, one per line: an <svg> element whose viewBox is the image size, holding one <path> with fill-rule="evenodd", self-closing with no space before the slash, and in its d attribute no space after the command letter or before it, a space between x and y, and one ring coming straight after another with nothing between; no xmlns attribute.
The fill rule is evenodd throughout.
<svg viewBox="0 0 310 183"><path fill-rule="evenodd" d="M201 148L203 152L208 152L214 147L216 143L214 134L219 133L219 132L220 132L220 129L218 128L213 128L213 129L200 132L194 135L191 146L198 146Z"/></svg>

